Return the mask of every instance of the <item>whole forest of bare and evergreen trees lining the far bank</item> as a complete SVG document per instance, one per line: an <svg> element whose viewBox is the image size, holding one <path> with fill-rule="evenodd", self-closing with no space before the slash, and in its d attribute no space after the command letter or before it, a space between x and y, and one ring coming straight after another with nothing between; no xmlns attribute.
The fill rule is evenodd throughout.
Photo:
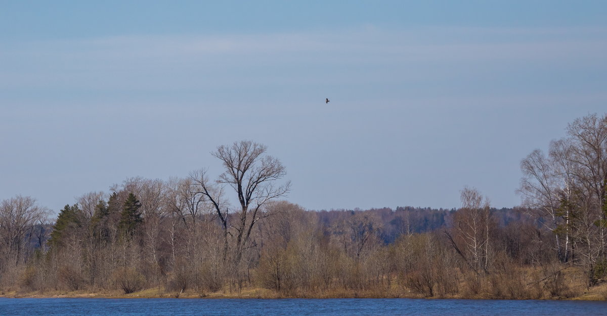
<svg viewBox="0 0 607 316"><path fill-rule="evenodd" d="M607 114L522 157L515 208L465 187L453 209L306 210L265 145L212 155L216 179L126 179L56 219L2 200L0 294L607 299Z"/></svg>

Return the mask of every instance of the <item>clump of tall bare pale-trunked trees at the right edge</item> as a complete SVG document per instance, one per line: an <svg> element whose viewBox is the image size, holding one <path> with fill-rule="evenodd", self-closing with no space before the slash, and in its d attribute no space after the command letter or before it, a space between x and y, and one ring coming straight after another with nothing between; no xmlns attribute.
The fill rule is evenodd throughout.
<svg viewBox="0 0 607 316"><path fill-rule="evenodd" d="M535 150L523 159L518 193L527 214L555 233L561 262L578 245L592 266L607 246L607 115L576 119L567 132L551 142L549 157Z"/></svg>

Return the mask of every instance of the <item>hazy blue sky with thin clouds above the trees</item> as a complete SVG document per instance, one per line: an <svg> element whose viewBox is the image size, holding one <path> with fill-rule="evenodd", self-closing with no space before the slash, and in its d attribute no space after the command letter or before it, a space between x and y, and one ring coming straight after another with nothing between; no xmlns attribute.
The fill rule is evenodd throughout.
<svg viewBox="0 0 607 316"><path fill-rule="evenodd" d="M520 204L607 111L605 1L0 1L0 200L57 212L253 140L306 209ZM325 104L325 98L330 103Z"/></svg>

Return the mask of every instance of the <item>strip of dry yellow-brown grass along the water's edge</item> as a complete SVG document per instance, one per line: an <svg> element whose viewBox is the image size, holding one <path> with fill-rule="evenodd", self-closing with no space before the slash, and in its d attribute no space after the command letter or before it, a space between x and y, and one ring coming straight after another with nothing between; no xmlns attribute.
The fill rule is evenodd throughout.
<svg viewBox="0 0 607 316"><path fill-rule="evenodd" d="M398 286L396 281L389 289L375 290L347 290L347 289L331 289L331 291L314 291L314 290L299 290L288 294L279 293L270 289L259 288L255 286L243 288L242 291L229 291L224 288L216 292L208 292L200 294L194 289L188 289L183 292L168 291L164 287L148 288L141 291L124 294L119 289L115 291L98 291L91 292L86 290L77 291L33 291L33 292L18 292L18 291L0 291L0 297L33 297L33 298L475 298L475 299L495 299L495 298L542 298L542 299L570 299L570 300L607 300L607 282L599 283L592 288L586 287L586 275L580 268L561 268L556 271L540 271L540 269L521 269L520 279L513 280L506 277L487 278L483 281L483 285L478 289L478 292L472 293L469 291L469 286L465 280L461 280L459 291L449 295L435 295L434 297L426 297L407 288ZM550 279L551 275L558 277ZM548 276L548 278L546 278ZM506 284L514 282L513 284ZM514 297L509 292L513 291L512 286L525 284L523 289L517 291L525 292L520 297ZM552 283L551 283L552 282ZM555 283L556 282L556 283ZM501 283L501 284L500 284ZM537 286L534 285L537 283ZM497 291L496 287L500 287ZM528 291L540 291L538 294L529 296ZM503 296L497 295L503 293Z"/></svg>

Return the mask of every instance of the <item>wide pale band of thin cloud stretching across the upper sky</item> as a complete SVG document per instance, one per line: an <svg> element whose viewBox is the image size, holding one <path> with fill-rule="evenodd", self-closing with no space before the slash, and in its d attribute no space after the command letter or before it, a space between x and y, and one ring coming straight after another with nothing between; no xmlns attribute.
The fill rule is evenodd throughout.
<svg viewBox="0 0 607 316"><path fill-rule="evenodd" d="M146 90L436 81L507 68L605 67L605 28L417 28L111 36L0 48L5 89ZM322 71L323 76L318 76Z"/></svg>

